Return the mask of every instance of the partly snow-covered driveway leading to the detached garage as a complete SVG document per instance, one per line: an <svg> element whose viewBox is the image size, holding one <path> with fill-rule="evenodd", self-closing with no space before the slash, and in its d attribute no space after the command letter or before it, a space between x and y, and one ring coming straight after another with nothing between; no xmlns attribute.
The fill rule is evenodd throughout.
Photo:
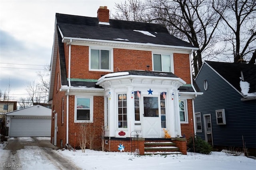
<svg viewBox="0 0 256 170"><path fill-rule="evenodd" d="M40 140L38 140L40 139ZM1 170L80 170L72 161L60 156L50 140L42 138L11 138L1 150ZM47 139L47 138L46 138Z"/></svg>

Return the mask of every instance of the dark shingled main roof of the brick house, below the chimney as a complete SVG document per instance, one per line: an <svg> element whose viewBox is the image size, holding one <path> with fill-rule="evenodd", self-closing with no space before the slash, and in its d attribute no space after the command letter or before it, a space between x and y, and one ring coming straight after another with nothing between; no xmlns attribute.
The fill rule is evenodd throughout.
<svg viewBox="0 0 256 170"><path fill-rule="evenodd" d="M166 27L160 24L109 20L110 25L102 25L99 24L98 18L58 13L56 13L56 21L64 37L195 48L190 43L170 35ZM148 31L156 37L144 35L134 30ZM129 41L116 39L128 39Z"/></svg>

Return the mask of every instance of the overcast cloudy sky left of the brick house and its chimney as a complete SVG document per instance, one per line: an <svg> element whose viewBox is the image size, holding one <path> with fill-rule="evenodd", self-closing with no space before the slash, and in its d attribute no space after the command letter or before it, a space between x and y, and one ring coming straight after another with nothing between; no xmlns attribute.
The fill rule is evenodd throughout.
<svg viewBox="0 0 256 170"><path fill-rule="evenodd" d="M50 64L55 14L97 17L100 6L114 14L125 0L0 0L0 90L26 97L28 82Z"/></svg>

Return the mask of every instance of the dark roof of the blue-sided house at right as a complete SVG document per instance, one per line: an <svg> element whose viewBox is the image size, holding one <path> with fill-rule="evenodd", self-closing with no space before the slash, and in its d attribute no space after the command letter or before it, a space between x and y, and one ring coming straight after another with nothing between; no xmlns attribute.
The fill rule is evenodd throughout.
<svg viewBox="0 0 256 170"><path fill-rule="evenodd" d="M256 64L245 63L222 63L215 61L205 61L234 88L241 92L240 77L243 72L244 81L250 83L249 93L256 92Z"/></svg>

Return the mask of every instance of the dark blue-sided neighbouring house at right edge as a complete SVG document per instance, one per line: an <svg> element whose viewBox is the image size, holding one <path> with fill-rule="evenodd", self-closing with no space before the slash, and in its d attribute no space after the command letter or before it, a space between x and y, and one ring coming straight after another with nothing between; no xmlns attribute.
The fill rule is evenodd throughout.
<svg viewBox="0 0 256 170"><path fill-rule="evenodd" d="M204 61L196 83L195 131L214 147L256 149L256 65Z"/></svg>

